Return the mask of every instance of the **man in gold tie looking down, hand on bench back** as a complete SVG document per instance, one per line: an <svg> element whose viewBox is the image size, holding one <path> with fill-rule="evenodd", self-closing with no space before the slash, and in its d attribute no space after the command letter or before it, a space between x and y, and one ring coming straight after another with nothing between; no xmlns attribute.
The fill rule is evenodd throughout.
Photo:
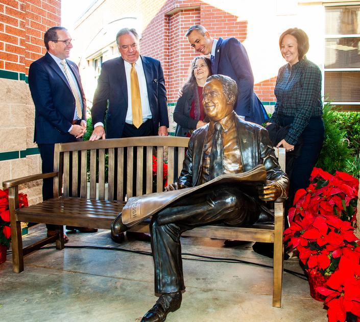
<svg viewBox="0 0 360 322"><path fill-rule="evenodd" d="M90 140L148 135L167 135L166 89L158 60L140 56L135 29L124 28L116 35L121 57L102 64L91 109L94 131ZM130 71L137 72L141 98L142 123L133 123ZM106 134L104 119L106 114Z"/></svg>

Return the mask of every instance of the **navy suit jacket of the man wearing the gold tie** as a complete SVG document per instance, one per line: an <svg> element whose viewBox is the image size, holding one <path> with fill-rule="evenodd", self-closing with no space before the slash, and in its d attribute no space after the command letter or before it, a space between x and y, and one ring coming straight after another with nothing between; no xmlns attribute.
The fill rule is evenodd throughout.
<svg viewBox="0 0 360 322"><path fill-rule="evenodd" d="M164 75L158 60L146 56L140 57L146 78L153 134L157 135L159 126L169 127ZM102 64L92 103L92 123L104 123L106 114L106 138L121 138L128 110L128 88L122 57Z"/></svg>

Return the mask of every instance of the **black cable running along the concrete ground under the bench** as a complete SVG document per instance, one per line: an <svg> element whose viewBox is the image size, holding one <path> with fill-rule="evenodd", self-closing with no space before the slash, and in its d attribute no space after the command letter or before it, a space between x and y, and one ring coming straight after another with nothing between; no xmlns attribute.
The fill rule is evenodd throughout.
<svg viewBox="0 0 360 322"><path fill-rule="evenodd" d="M46 246L41 247L39 250L47 250L47 249L54 249L55 246ZM118 251L118 252L128 252L133 254L139 254L139 255L147 255L147 256L153 256L152 252L146 252L146 251L133 251L133 250L127 250L121 247L106 247L106 246L70 246L65 245L65 248L69 249L88 249L88 250L106 250L106 251ZM8 255L10 255L12 252L7 252ZM192 260L192 261L202 261L202 262L220 262L220 263L239 263L239 264L248 264L248 265L255 265L265 268L273 268L272 265L266 265L256 262L250 262L245 261L242 259L235 259L235 258L221 258L221 257L212 257L212 256L205 256L205 255L197 255L197 254L191 254L191 253L181 253L182 256L193 256L193 257L199 257L201 259L196 258L183 258L184 260ZM286 273L289 273L291 275L294 275L302 280L307 281L307 277L305 274L298 273L296 271L286 269L284 268L283 271Z"/></svg>

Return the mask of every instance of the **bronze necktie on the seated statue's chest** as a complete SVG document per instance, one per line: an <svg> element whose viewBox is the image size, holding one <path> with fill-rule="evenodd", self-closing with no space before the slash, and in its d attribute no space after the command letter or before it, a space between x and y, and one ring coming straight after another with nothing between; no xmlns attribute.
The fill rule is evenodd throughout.
<svg viewBox="0 0 360 322"><path fill-rule="evenodd" d="M223 127L219 122L216 122L212 135L208 181L223 174L223 150Z"/></svg>

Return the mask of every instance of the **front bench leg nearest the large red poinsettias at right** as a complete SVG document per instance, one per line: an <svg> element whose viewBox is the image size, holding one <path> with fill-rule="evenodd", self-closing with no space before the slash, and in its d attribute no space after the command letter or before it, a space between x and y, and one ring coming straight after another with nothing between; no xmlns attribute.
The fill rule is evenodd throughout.
<svg viewBox="0 0 360 322"><path fill-rule="evenodd" d="M273 306L281 307L282 270L284 260L283 247L284 208L283 203L275 203L274 227L274 271L273 271Z"/></svg>

